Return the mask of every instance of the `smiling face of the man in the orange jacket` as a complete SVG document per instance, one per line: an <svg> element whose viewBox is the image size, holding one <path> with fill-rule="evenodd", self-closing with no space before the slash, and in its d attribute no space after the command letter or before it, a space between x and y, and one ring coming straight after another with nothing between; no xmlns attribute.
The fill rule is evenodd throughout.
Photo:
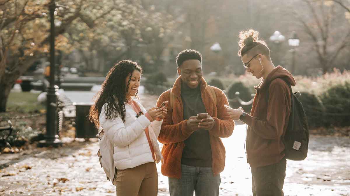
<svg viewBox="0 0 350 196"><path fill-rule="evenodd" d="M202 78L202 63L197 59L183 61L180 67L177 68L177 73L181 75L183 83L187 84L192 89L197 88Z"/></svg>

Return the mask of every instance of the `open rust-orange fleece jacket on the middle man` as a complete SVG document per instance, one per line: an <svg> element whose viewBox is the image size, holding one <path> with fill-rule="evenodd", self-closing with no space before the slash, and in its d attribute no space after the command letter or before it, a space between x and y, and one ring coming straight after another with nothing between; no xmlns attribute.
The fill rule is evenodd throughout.
<svg viewBox="0 0 350 196"><path fill-rule="evenodd" d="M213 87L217 103L214 105L214 100L211 93L206 90L207 82L201 78L200 83L202 100L207 113L215 120L215 126L209 130L210 145L212 152L212 170L214 175L219 174L224 170L225 166L225 147L220 137L231 136L235 127L235 122L230 118L224 105L229 105L228 100L222 90ZM187 127L187 119L183 119L183 104L181 100L181 76L179 76L172 89L162 93L157 101L159 107L163 101L169 101L170 90L174 93L174 108L168 107L168 112L162 123L162 128L158 136L159 142L164 144L162 148L162 166L161 171L165 176L172 178L181 178L181 157L184 148L184 140L192 133Z"/></svg>

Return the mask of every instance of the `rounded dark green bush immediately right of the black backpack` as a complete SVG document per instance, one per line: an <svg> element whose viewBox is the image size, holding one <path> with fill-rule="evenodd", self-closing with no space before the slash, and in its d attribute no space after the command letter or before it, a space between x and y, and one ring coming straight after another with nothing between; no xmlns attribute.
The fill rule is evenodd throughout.
<svg viewBox="0 0 350 196"><path fill-rule="evenodd" d="M309 92L301 92L299 100L303 104L309 127L317 128L324 126L325 107L320 98Z"/></svg>

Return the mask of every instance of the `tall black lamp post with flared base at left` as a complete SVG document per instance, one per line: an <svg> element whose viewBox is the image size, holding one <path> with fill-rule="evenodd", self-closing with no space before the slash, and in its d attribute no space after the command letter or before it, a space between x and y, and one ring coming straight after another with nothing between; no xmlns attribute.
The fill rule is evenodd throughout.
<svg viewBox="0 0 350 196"><path fill-rule="evenodd" d="M38 146L62 146L62 142L55 137L56 135L56 92L55 92L55 0L49 4L50 11L50 77L47 93L46 105L46 134L44 140L39 141Z"/></svg>

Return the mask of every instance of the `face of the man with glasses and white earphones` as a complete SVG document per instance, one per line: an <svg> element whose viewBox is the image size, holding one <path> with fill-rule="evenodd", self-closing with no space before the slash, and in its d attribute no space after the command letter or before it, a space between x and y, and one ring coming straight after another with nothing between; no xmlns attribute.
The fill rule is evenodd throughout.
<svg viewBox="0 0 350 196"><path fill-rule="evenodd" d="M262 77L262 74L263 71L262 70L262 65L259 61L259 58L261 59L262 55L259 54L257 56L255 56L254 58L254 55L251 56L251 55L244 55L242 56L242 62L244 65L246 65L246 71L247 73L251 73L253 76L255 76L256 78L261 78Z"/></svg>

